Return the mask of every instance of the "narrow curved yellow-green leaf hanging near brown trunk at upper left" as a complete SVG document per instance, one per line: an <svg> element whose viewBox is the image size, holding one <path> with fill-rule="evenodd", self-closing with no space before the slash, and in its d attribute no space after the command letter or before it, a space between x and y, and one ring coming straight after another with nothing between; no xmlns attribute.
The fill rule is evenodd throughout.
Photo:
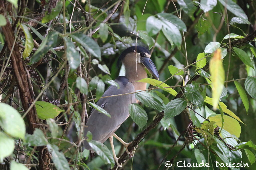
<svg viewBox="0 0 256 170"><path fill-rule="evenodd" d="M24 34L26 36L26 44L25 44L25 49L23 51L23 58L27 58L31 51L33 50L34 47L34 42L33 42L33 37L30 34L28 27L25 24L20 24L20 27L23 29Z"/></svg>

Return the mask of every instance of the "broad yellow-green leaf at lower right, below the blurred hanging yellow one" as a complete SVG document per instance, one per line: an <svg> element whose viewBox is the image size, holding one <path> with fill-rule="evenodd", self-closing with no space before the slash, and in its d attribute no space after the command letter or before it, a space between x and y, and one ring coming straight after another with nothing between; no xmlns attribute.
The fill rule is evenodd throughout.
<svg viewBox="0 0 256 170"><path fill-rule="evenodd" d="M236 137L239 138L241 134L241 126L238 121L227 115L223 115L223 119L225 123L223 129L228 131L231 135L236 135ZM209 117L209 120L216 122L216 125L222 127L222 119L220 114L214 117Z"/></svg>

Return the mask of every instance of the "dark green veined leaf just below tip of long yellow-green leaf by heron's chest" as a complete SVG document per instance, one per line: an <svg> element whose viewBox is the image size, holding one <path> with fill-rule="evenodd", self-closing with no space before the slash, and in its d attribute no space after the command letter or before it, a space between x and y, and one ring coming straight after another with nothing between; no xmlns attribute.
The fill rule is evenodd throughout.
<svg viewBox="0 0 256 170"><path fill-rule="evenodd" d="M187 107L187 101L183 98L177 98L166 104L164 110L165 119L179 115Z"/></svg>

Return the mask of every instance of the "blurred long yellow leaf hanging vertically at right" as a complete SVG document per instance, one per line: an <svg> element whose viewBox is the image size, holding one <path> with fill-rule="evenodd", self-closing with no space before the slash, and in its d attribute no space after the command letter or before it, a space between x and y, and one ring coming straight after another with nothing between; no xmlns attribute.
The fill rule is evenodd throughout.
<svg viewBox="0 0 256 170"><path fill-rule="evenodd" d="M213 108L214 110L217 109L218 102L220 99L220 94L224 87L225 81L225 71L222 64L222 55L221 49L217 49L214 52L214 56L210 60L209 68L211 74L211 81L212 81L212 98L213 98Z"/></svg>

